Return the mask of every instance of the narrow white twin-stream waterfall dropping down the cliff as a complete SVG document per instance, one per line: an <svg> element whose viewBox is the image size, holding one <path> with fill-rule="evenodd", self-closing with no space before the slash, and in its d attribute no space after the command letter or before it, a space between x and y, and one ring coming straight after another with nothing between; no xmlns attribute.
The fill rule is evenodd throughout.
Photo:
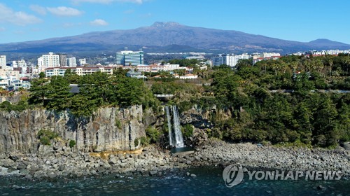
<svg viewBox="0 0 350 196"><path fill-rule="evenodd" d="M165 107L165 111L167 112L167 120L168 120L168 129L169 129L169 144L175 148L183 148L185 144L183 144L183 136L180 128L180 120L179 120L179 111L176 106ZM171 117L172 111L172 117ZM172 126L173 123L173 126ZM174 132L173 132L174 130Z"/></svg>

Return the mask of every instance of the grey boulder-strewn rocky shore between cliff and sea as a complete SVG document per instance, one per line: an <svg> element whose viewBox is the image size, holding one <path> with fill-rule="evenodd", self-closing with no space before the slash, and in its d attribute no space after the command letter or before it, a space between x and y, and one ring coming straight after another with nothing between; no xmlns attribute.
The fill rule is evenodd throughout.
<svg viewBox="0 0 350 196"><path fill-rule="evenodd" d="M237 164L250 168L279 170L328 170L350 175L350 151L307 148L276 148L255 144L230 144L209 139L194 152L171 154L155 146L140 153L82 153L62 143L40 146L38 153L0 155L1 175L20 175L26 179L55 179L130 172L162 175L174 168Z"/></svg>

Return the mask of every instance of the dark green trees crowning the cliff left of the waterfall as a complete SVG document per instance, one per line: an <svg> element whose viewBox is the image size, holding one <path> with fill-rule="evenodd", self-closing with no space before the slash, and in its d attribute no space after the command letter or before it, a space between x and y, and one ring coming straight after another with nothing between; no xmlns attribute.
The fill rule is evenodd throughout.
<svg viewBox="0 0 350 196"><path fill-rule="evenodd" d="M31 81L29 103L56 111L69 109L76 116L91 116L103 106L142 104L144 108L156 109L159 101L144 81L127 78L124 72L116 70L113 76L101 72L77 76L68 71L64 76L53 76L50 80L37 78ZM70 83L78 83L79 93L70 92Z"/></svg>

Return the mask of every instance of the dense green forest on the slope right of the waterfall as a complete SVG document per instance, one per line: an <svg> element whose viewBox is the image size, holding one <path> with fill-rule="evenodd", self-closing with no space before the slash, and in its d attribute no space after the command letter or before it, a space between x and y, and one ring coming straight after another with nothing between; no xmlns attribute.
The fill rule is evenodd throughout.
<svg viewBox="0 0 350 196"><path fill-rule="evenodd" d="M318 90L350 90L349 68L349 56L288 56L255 65L242 60L235 70L216 66L209 71L211 86L188 84L193 87L188 90L175 80L155 83L152 90L178 94L170 104L179 111L196 104L229 113L229 118L211 113L216 125L208 131L211 137L328 147L350 140L350 94Z"/></svg>

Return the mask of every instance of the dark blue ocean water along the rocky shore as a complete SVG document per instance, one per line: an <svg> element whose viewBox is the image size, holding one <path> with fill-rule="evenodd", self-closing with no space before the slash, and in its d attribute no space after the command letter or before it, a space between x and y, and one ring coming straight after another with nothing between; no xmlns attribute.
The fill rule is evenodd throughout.
<svg viewBox="0 0 350 196"><path fill-rule="evenodd" d="M196 177L187 176L186 172ZM245 175L244 181L228 188L222 172L218 167L198 167L174 169L163 172L162 176L111 174L41 181L1 176L0 195L350 195L350 180L344 178L339 181L257 181ZM319 190L320 185L325 189Z"/></svg>

